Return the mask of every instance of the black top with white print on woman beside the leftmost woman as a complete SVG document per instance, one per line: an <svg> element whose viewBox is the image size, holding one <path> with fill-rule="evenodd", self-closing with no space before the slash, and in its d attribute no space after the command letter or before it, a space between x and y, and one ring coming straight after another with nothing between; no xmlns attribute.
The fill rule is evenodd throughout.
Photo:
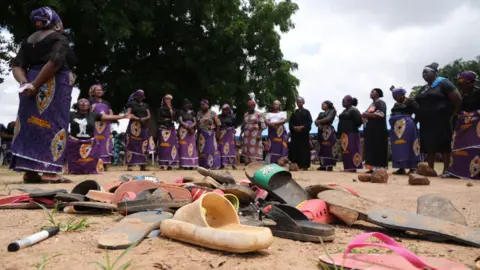
<svg viewBox="0 0 480 270"><path fill-rule="evenodd" d="M95 112L80 114L70 112L70 136L81 140L87 140L93 137L95 121L101 121L102 115Z"/></svg>

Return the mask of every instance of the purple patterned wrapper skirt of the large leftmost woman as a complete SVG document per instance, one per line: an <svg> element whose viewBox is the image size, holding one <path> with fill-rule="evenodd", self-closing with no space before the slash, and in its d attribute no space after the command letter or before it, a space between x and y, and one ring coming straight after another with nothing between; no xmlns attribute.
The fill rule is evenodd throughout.
<svg viewBox="0 0 480 270"><path fill-rule="evenodd" d="M42 66L32 67L33 81ZM39 89L36 96L20 96L12 140L10 168L15 171L61 173L65 165L65 146L72 101L73 76L62 69Z"/></svg>

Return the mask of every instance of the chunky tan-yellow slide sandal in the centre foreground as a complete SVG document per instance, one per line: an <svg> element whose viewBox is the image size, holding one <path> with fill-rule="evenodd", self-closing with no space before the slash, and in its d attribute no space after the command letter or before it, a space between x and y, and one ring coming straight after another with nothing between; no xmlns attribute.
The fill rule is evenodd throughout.
<svg viewBox="0 0 480 270"><path fill-rule="evenodd" d="M235 253L266 249L273 243L268 228L241 225L232 204L213 192L162 221L160 232L178 241Z"/></svg>

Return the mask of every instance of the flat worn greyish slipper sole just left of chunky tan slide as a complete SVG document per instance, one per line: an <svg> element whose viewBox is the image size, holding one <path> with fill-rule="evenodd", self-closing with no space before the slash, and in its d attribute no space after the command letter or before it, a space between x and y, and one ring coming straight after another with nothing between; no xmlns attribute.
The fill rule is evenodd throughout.
<svg viewBox="0 0 480 270"><path fill-rule="evenodd" d="M124 217L98 238L98 246L106 249L124 249L140 243L149 233L160 227L163 220L173 215L162 210L140 212Z"/></svg>

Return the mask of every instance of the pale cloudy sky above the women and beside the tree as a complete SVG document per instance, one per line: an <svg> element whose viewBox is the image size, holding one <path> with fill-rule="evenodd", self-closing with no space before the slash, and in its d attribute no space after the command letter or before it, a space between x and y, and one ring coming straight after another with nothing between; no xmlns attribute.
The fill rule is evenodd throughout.
<svg viewBox="0 0 480 270"><path fill-rule="evenodd" d="M423 84L422 69L431 62L480 55L478 0L296 2L296 27L283 35L281 46L299 64L299 92L313 117L324 100L341 110L347 94L358 98L363 111L375 87L384 90L391 107L392 84L409 89ZM12 86L9 77L0 89ZM0 123L13 121L18 98L0 91L0 100Z"/></svg>

